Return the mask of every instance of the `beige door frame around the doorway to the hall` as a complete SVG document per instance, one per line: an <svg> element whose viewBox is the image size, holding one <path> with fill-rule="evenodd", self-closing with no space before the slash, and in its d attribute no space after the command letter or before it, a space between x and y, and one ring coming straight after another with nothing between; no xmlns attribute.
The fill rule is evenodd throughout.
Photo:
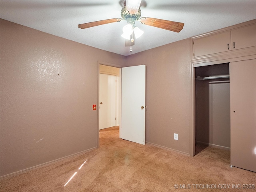
<svg viewBox="0 0 256 192"><path fill-rule="evenodd" d="M120 94L121 94L121 65L116 65L116 64L112 64L112 63L107 63L107 62L101 62L98 61L97 62L97 148L100 147L100 65L106 65L106 66L110 66L110 67L115 67L115 68L119 68L120 69ZM120 104L119 106L121 106L121 98L120 98ZM121 110L119 110L119 114L116 114L117 116L121 117ZM119 120L119 130L121 128L121 119ZM121 132L119 131L119 137L120 137Z"/></svg>

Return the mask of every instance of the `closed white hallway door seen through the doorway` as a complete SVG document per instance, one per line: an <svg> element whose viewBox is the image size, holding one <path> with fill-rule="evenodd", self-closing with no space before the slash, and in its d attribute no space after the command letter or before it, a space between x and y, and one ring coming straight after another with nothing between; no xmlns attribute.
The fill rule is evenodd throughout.
<svg viewBox="0 0 256 192"><path fill-rule="evenodd" d="M116 76L100 74L100 129L116 126Z"/></svg>

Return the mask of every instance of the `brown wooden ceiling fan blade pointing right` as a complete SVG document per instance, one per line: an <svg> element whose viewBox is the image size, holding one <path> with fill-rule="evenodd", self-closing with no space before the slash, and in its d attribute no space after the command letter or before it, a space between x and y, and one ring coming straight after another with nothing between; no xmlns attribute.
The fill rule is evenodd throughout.
<svg viewBox="0 0 256 192"><path fill-rule="evenodd" d="M163 19L155 19L150 17L143 17L140 22L145 25L166 29L169 31L180 32L183 29L184 23L168 21Z"/></svg>

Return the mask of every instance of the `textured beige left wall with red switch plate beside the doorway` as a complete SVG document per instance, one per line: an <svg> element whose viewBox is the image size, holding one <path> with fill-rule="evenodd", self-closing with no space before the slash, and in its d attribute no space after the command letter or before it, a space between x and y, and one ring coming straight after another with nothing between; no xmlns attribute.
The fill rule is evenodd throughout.
<svg viewBox="0 0 256 192"><path fill-rule="evenodd" d="M97 146L98 62L125 57L1 20L1 176Z"/></svg>

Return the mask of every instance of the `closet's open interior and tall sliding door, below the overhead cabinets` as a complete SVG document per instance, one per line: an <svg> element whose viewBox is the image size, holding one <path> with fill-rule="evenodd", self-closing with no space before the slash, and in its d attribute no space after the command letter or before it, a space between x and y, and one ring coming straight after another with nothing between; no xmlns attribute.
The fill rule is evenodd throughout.
<svg viewBox="0 0 256 192"><path fill-rule="evenodd" d="M195 67L196 144L256 172L256 59Z"/></svg>

